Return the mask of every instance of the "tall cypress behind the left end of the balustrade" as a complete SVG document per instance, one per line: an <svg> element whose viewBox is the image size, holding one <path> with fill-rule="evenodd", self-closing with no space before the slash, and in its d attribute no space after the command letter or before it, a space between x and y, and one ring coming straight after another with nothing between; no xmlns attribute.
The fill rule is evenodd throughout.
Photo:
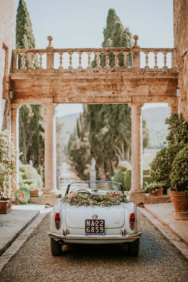
<svg viewBox="0 0 188 282"><path fill-rule="evenodd" d="M31 19L25 1L20 0L16 15L16 48L35 48ZM38 57L34 56L34 67L38 66ZM21 66L18 58L18 67ZM25 67L29 67L29 55L25 56ZM44 170L44 109L41 105L22 105L19 113L19 141L23 155L23 164L33 161L34 167L42 174Z"/></svg>

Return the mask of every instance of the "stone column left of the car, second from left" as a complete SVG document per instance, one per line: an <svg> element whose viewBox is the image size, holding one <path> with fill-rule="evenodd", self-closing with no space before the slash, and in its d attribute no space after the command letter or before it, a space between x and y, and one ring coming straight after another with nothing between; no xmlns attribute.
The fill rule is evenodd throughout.
<svg viewBox="0 0 188 282"><path fill-rule="evenodd" d="M42 104L45 108L44 193L56 193L56 103Z"/></svg>

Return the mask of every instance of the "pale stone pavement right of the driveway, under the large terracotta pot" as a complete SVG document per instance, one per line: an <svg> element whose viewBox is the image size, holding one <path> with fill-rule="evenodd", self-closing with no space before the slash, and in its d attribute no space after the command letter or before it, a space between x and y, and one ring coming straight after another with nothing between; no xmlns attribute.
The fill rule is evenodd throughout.
<svg viewBox="0 0 188 282"><path fill-rule="evenodd" d="M144 208L188 245L188 221L174 219L172 203L144 204Z"/></svg>

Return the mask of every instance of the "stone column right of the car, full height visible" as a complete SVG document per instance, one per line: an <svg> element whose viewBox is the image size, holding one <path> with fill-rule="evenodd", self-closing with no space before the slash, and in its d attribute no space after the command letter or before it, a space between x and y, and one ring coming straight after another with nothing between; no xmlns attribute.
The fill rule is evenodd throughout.
<svg viewBox="0 0 188 282"><path fill-rule="evenodd" d="M141 104L130 103L131 107L131 190L129 193L142 193L142 116Z"/></svg>

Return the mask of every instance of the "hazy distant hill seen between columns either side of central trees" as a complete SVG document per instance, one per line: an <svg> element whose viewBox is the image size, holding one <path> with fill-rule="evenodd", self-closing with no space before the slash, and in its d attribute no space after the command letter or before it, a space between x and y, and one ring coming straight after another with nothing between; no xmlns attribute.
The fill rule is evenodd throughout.
<svg viewBox="0 0 188 282"><path fill-rule="evenodd" d="M57 118L62 123L62 142L67 146L70 134L74 132L77 118L80 113L68 114ZM169 107L156 107L142 110L142 116L146 120L146 125L150 133L149 148L161 148L168 134L168 125L164 124L165 119L170 116Z"/></svg>

